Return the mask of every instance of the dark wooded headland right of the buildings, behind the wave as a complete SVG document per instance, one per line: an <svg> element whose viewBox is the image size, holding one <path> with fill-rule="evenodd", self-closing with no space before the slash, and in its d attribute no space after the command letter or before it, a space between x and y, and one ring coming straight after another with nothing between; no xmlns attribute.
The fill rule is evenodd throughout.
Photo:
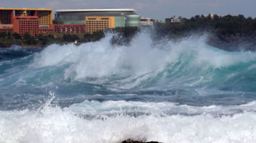
<svg viewBox="0 0 256 143"><path fill-rule="evenodd" d="M209 34L208 43L214 46L256 46L256 18L238 16L207 17L197 15L189 19L179 17L180 22L171 22L166 18L164 23L156 22L154 33L156 39L169 37L180 39L194 34Z"/></svg>

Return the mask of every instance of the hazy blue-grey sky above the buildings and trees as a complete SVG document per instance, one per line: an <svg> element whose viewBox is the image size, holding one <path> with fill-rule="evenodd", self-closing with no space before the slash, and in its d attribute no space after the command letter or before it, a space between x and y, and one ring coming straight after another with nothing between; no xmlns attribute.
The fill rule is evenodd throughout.
<svg viewBox="0 0 256 143"><path fill-rule="evenodd" d="M5 8L134 8L137 14L154 19L190 18L209 13L256 17L256 0L0 0Z"/></svg>

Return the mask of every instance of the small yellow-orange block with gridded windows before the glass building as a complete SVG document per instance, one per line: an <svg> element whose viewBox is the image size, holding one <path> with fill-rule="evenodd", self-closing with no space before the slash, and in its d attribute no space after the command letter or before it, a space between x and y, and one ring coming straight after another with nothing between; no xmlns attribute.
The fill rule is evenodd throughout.
<svg viewBox="0 0 256 143"><path fill-rule="evenodd" d="M115 17L87 16L85 25L86 33L102 31L106 28L115 28Z"/></svg>

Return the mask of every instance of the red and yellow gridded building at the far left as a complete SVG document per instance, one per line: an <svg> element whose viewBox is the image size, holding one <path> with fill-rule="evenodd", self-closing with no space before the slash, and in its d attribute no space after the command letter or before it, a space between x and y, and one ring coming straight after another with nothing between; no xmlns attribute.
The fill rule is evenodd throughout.
<svg viewBox="0 0 256 143"><path fill-rule="evenodd" d="M0 8L0 32L38 36L41 26L52 25L52 9Z"/></svg>

